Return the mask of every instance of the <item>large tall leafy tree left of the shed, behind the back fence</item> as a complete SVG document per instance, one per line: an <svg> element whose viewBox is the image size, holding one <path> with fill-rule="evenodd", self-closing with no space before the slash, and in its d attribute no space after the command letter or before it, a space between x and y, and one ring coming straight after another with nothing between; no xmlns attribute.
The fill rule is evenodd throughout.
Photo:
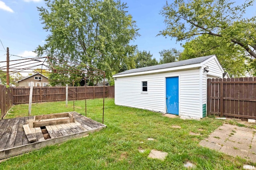
<svg viewBox="0 0 256 170"><path fill-rule="evenodd" d="M72 67L84 63L104 70L110 79L122 64L132 67L128 61L133 59L136 46L129 43L139 34L126 8L120 0L46 0L46 8L38 11L49 35L35 52L72 61ZM91 78L90 84L99 79Z"/></svg>

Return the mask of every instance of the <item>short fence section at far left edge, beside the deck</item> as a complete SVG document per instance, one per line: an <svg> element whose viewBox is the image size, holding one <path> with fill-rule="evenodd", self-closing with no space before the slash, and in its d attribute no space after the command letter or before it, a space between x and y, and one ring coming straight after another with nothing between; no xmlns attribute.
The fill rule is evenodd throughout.
<svg viewBox="0 0 256 170"><path fill-rule="evenodd" d="M12 107L12 91L11 88L0 85L0 113L1 119L7 113L7 111Z"/></svg>

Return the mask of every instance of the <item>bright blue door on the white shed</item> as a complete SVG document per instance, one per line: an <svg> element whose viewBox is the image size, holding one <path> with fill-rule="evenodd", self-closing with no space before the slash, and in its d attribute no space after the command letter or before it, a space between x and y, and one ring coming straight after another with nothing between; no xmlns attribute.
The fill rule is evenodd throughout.
<svg viewBox="0 0 256 170"><path fill-rule="evenodd" d="M179 77L166 78L166 113L179 114Z"/></svg>

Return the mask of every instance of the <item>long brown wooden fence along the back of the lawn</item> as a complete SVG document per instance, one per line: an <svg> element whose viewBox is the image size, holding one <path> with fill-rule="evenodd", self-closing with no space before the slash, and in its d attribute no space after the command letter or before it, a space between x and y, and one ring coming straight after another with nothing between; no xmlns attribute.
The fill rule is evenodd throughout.
<svg viewBox="0 0 256 170"><path fill-rule="evenodd" d="M113 89L114 86L105 86L105 97L113 98ZM13 104L28 103L29 91L29 87L13 87ZM86 99L103 98L103 86L68 87L68 100L83 100L85 97ZM33 87L32 102L64 100L66 100L66 87Z"/></svg>

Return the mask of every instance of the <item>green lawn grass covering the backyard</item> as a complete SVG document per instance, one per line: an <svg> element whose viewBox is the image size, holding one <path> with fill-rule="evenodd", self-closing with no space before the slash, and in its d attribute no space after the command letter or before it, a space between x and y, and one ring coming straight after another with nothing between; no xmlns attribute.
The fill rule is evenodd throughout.
<svg viewBox="0 0 256 170"><path fill-rule="evenodd" d="M87 116L101 122L102 99L87 100L87 106ZM73 102L70 101L68 107L65 102L32 105L32 115L66 111L73 111ZM84 101L75 101L75 111L85 113ZM170 119L152 111L116 106L113 99L105 100L104 111L106 129L10 158L0 164L0 169L177 170L186 169L183 165L187 161L202 170L242 169L244 164L256 166L198 145L222 125L222 120L208 117L200 121ZM27 113L28 105L17 105L6 118L27 116ZM173 125L181 128L172 128ZM189 135L190 131L201 135ZM147 158L152 149L168 152L167 158L164 161Z"/></svg>

